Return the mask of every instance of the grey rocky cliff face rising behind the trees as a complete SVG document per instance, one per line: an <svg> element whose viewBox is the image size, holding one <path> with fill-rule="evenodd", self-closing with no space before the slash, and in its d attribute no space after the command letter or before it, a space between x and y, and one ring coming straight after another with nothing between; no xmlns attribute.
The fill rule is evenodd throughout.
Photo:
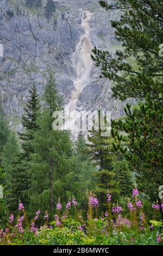
<svg viewBox="0 0 163 256"><path fill-rule="evenodd" d="M47 8L49 2L53 9ZM38 6L0 0L0 89L12 126L21 129L28 89L35 83L42 94L48 70L55 72L65 105L74 100L78 110L103 108L112 118L122 114L122 103L112 98L111 85L99 79L100 71L89 57L90 46L112 51L120 47L110 24L118 15L101 9L98 0L42 0ZM85 80L80 71L89 72Z"/></svg>

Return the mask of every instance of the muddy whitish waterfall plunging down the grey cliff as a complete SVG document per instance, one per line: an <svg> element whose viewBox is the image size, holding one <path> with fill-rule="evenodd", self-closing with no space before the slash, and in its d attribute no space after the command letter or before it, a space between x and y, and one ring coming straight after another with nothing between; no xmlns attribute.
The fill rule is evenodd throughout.
<svg viewBox="0 0 163 256"><path fill-rule="evenodd" d="M86 17L84 17L86 14ZM76 47L76 51L72 56L73 64L73 84L74 91L72 93L70 102L67 106L69 111L74 113L74 118L76 117L76 102L78 96L82 92L83 88L89 83L91 68L92 68L92 45L90 41L90 19L92 13L89 11L84 11L82 18L82 27L84 28L84 34L80 36L80 40ZM73 122L73 120L71 120Z"/></svg>

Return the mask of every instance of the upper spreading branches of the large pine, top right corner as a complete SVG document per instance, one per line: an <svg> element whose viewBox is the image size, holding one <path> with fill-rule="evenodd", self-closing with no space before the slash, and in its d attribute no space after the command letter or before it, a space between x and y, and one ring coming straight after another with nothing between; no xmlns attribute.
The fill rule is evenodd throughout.
<svg viewBox="0 0 163 256"><path fill-rule="evenodd" d="M102 76L113 83L114 96L158 99L162 94L162 3L156 1L100 1L106 9L123 10L119 21L112 21L122 50L113 56L109 51L93 50L93 60L101 67Z"/></svg>

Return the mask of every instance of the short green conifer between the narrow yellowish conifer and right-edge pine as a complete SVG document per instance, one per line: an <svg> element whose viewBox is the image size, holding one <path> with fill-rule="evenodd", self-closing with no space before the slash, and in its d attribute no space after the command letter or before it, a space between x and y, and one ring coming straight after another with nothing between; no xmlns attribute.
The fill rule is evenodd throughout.
<svg viewBox="0 0 163 256"><path fill-rule="evenodd" d="M133 183L131 181L131 173L128 162L126 160L118 160L113 163L113 172L115 173L115 179L118 181L120 188L120 196L130 197L133 190Z"/></svg>

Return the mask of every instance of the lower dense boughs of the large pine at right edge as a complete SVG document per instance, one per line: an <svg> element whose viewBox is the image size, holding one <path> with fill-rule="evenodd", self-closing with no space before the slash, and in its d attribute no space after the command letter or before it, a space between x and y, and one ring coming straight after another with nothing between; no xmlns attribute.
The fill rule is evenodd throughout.
<svg viewBox="0 0 163 256"><path fill-rule="evenodd" d="M162 103L148 98L133 110L127 105L125 111L123 119L112 122L114 148L136 169L141 191L156 200L159 184L163 183Z"/></svg>

